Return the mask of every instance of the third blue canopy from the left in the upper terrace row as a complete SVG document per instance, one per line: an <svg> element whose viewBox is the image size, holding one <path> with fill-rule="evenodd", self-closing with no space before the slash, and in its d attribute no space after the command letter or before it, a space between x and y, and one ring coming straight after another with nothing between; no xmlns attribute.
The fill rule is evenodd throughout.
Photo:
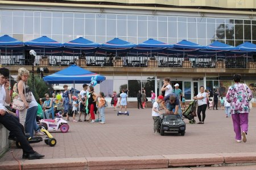
<svg viewBox="0 0 256 170"><path fill-rule="evenodd" d="M75 50L75 51L79 51L80 53L81 51L84 51L84 50L88 50L92 52L93 50L101 46L100 44L84 39L83 37L79 37L75 40L65 42L63 45L64 45L64 50L65 49Z"/></svg>

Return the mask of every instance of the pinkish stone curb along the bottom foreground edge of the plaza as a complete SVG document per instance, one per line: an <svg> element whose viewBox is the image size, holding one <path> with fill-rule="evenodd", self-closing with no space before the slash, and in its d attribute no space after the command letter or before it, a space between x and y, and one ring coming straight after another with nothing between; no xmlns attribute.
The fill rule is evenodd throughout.
<svg viewBox="0 0 256 170"><path fill-rule="evenodd" d="M22 169L158 169L201 165L256 164L256 152L221 154L184 154L21 160ZM19 169L18 162L0 162L0 169Z"/></svg>

